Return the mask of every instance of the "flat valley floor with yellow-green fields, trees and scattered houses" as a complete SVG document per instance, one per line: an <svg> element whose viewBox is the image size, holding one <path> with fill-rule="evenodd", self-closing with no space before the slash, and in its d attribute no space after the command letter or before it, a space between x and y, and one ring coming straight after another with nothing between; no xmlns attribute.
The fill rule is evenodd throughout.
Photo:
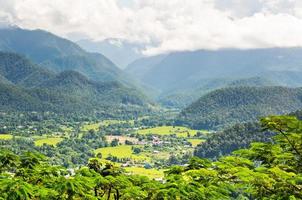
<svg viewBox="0 0 302 200"><path fill-rule="evenodd" d="M53 164L64 163L69 168L85 162L73 159L66 161L66 157L73 154L83 156L86 153L85 156L113 162L129 173L151 178L163 178L163 171L169 166L188 161L193 156L194 147L209 134L208 131L181 126L142 125L145 117L137 120L104 119L99 122L95 118L95 121L66 121L60 124L56 122L59 116L51 113L46 116L40 113L21 116L10 126L2 126L2 147L20 153L23 148L35 150L48 155ZM16 120L9 113L2 113L2 117L7 121ZM95 143L94 148L88 145L91 142ZM76 148L80 151L70 146L73 144L77 144ZM15 145L18 145L19 150L15 149ZM68 155L60 155L67 149ZM81 149L86 152L81 152Z"/></svg>

